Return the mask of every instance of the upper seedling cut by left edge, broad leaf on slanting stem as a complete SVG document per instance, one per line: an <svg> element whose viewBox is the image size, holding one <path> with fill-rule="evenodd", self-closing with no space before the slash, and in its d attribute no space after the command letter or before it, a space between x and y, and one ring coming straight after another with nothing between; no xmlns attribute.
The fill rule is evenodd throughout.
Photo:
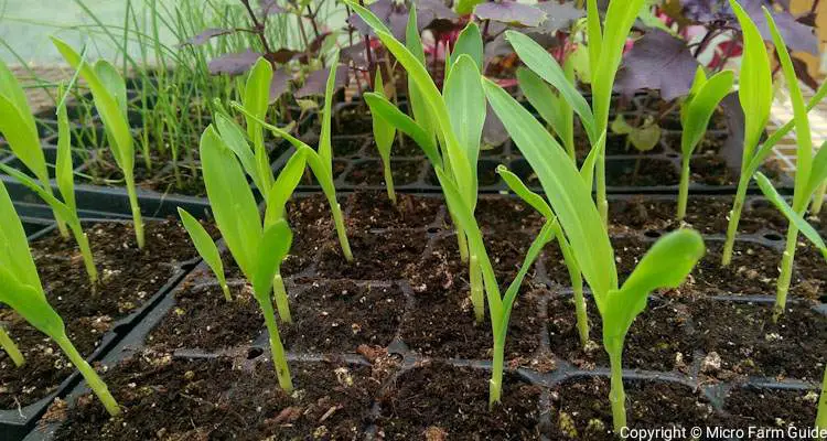
<svg viewBox="0 0 827 441"><path fill-rule="evenodd" d="M2 61L0 61L0 133L3 135L20 162L34 174L39 181L37 185L51 195L49 169L32 110L18 78ZM61 236L68 237L66 220L57 212L54 213L54 218Z"/></svg>

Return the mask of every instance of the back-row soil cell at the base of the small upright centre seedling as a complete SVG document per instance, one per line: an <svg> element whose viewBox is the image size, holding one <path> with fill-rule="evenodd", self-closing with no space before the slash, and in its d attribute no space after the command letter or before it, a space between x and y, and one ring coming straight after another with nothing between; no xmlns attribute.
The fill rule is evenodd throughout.
<svg viewBox="0 0 827 441"><path fill-rule="evenodd" d="M397 193L396 204L386 192L356 192L347 197L347 229L426 228L437 222L442 201Z"/></svg>

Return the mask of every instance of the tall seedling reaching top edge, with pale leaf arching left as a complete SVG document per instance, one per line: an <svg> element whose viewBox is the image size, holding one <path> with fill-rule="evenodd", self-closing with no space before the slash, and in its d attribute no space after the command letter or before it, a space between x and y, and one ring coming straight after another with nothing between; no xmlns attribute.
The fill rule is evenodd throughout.
<svg viewBox="0 0 827 441"><path fill-rule="evenodd" d="M609 109L612 88L623 57L626 39L637 18L644 0L611 1L601 25L597 0L587 1L587 36L591 66L592 104L580 95L557 61L530 37L515 31L506 31L506 40L523 63L556 88L580 117L589 141L600 153L595 163L598 208L604 224L609 222L609 202L605 190L605 146L597 146L598 137L609 128ZM605 144L605 139L601 141Z"/></svg>

